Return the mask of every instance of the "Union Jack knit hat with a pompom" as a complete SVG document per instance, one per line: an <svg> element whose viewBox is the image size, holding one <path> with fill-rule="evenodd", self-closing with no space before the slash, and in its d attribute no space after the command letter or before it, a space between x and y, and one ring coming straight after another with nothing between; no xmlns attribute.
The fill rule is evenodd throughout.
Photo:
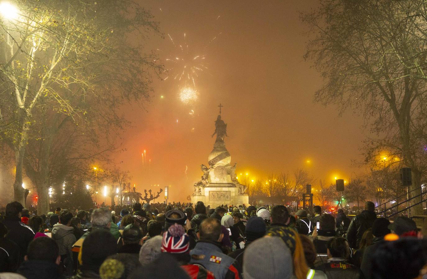
<svg viewBox="0 0 427 279"><path fill-rule="evenodd" d="M167 253L187 253L190 249L190 238L185 233L184 227L173 224L163 234L161 251Z"/></svg>

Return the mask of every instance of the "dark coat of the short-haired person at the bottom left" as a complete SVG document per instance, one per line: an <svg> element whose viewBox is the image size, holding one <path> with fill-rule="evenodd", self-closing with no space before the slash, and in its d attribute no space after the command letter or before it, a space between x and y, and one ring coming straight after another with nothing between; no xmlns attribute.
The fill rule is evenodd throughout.
<svg viewBox="0 0 427 279"><path fill-rule="evenodd" d="M17 273L24 276L26 279L63 278L59 271L58 265L54 262L47 261L25 261L19 267Z"/></svg>

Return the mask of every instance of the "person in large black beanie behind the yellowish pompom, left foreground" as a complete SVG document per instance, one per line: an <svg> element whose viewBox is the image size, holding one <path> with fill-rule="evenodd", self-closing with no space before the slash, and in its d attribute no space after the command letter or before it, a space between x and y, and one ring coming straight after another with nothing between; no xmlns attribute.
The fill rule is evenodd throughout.
<svg viewBox="0 0 427 279"><path fill-rule="evenodd" d="M117 253L116 239L108 230L94 230L85 238L80 252L80 270L71 278L99 278L101 264Z"/></svg>

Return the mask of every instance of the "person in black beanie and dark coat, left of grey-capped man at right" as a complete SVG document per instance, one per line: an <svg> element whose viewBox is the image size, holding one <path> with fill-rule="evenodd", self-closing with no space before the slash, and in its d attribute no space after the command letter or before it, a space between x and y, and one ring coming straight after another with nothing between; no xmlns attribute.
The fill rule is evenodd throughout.
<svg viewBox="0 0 427 279"><path fill-rule="evenodd" d="M396 218L396 220L398 218ZM384 240L384 236L391 232L389 226L390 221L382 217L377 218L372 224L372 244L366 247L365 251L363 251L362 263L360 264L360 269L367 279L372 277L372 262L374 260L373 254L375 250L377 250L378 246L386 242Z"/></svg>

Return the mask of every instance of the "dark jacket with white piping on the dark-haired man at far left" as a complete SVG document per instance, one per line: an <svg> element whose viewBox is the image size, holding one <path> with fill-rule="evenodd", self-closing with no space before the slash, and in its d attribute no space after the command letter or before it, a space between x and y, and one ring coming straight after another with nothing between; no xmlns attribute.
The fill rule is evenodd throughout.
<svg viewBox="0 0 427 279"><path fill-rule="evenodd" d="M20 256L23 260L26 255L28 244L34 238L34 232L31 227L21 222L19 217L4 218L3 224L9 231L6 238L18 244L20 249Z"/></svg>

